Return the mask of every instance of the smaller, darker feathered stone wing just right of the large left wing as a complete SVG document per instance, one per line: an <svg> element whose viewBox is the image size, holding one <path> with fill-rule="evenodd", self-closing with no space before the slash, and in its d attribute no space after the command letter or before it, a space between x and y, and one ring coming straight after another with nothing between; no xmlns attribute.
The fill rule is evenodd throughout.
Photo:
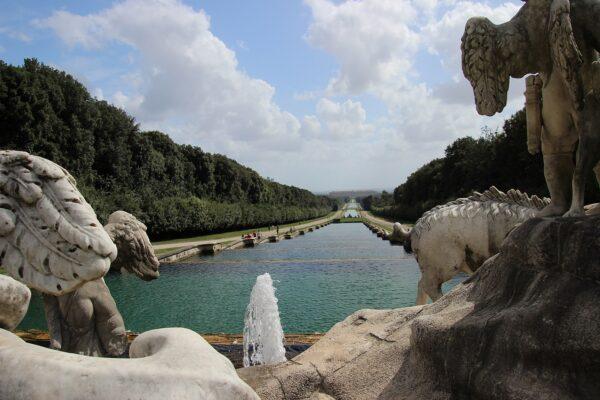
<svg viewBox="0 0 600 400"><path fill-rule="evenodd" d="M112 268L125 269L146 281L158 278L160 263L146 234L146 225L128 212L115 211L104 229L118 249Z"/></svg>

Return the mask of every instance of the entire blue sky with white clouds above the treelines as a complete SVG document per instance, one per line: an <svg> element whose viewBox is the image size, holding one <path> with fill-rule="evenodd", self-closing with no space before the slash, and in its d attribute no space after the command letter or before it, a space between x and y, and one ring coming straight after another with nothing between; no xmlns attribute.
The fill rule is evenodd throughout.
<svg viewBox="0 0 600 400"><path fill-rule="evenodd" d="M314 191L392 189L475 113L460 71L470 16L520 1L0 0L0 58L40 61L179 143ZM8 11L6 11L8 10Z"/></svg>

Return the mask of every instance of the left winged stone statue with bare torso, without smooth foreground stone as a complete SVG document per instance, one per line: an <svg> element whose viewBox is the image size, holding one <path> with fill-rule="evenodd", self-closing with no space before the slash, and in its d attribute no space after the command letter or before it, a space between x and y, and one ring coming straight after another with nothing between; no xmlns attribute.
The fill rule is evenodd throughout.
<svg viewBox="0 0 600 400"><path fill-rule="evenodd" d="M103 227L64 168L11 150L0 151L0 265L18 281L0 281L0 324L14 328L22 319L29 297L7 293L25 293L24 284L43 294L51 347L84 355L126 348L103 279L109 268L144 280L159 275L143 223L117 211Z"/></svg>

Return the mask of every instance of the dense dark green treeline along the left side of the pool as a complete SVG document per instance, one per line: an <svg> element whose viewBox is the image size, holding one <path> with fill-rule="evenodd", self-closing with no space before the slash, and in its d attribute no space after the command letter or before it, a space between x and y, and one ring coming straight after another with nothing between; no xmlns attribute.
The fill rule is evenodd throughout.
<svg viewBox="0 0 600 400"><path fill-rule="evenodd" d="M142 132L123 110L36 60L0 61L0 148L64 166L101 220L127 210L153 238L295 222L334 205L225 156Z"/></svg>

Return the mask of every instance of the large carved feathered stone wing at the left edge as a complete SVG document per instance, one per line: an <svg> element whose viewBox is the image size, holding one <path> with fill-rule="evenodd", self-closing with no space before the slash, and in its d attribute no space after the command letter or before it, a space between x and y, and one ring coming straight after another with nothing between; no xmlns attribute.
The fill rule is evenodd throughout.
<svg viewBox="0 0 600 400"><path fill-rule="evenodd" d="M106 274L117 248L62 167L0 151L0 265L46 294L62 295Z"/></svg>

